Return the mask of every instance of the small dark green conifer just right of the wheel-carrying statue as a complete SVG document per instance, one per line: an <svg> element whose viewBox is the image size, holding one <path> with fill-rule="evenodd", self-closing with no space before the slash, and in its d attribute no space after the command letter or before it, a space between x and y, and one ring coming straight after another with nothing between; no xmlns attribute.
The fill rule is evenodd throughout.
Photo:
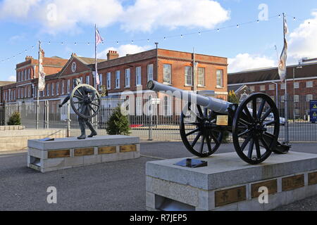
<svg viewBox="0 0 317 225"><path fill-rule="evenodd" d="M121 113L120 106L115 108L109 118L106 131L109 135L129 135L131 133L128 117Z"/></svg>

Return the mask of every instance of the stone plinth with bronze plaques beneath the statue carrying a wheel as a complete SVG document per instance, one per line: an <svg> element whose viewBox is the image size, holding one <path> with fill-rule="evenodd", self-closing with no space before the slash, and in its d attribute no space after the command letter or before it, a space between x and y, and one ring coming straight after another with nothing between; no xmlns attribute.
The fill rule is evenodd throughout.
<svg viewBox="0 0 317 225"><path fill-rule="evenodd" d="M139 158L139 138L123 135L27 141L27 167L40 172Z"/></svg>

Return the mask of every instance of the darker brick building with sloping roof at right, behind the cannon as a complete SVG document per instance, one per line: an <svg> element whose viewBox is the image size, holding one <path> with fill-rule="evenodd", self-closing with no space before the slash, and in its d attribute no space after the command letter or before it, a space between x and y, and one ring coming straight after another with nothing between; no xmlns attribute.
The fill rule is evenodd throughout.
<svg viewBox="0 0 317 225"><path fill-rule="evenodd" d="M309 101L317 99L317 63L287 66L287 96L290 100L289 117L309 115ZM285 84L281 84L278 68L247 70L228 74L228 89L238 94L262 92L278 102L284 114ZM278 97L276 97L278 96ZM278 99L276 99L278 98Z"/></svg>

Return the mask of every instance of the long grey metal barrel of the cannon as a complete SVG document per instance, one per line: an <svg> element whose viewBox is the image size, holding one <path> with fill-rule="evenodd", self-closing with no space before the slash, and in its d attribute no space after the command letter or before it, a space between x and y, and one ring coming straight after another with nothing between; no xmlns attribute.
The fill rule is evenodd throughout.
<svg viewBox="0 0 317 225"><path fill-rule="evenodd" d="M227 101L223 101L218 98L212 98L209 96L201 96L199 94L195 94L194 92L177 89L173 86L161 84L154 80L150 80L147 83L147 87L148 89L153 91L165 91L165 94L175 96L176 98L180 98L181 100L197 103L197 105L204 106L220 114L228 114L228 108L232 106L232 103L229 103Z"/></svg>

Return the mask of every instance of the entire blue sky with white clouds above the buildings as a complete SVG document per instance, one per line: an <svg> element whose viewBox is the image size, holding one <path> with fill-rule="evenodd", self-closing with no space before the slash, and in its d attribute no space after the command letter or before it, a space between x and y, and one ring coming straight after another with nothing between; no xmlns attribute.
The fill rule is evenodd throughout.
<svg viewBox="0 0 317 225"><path fill-rule="evenodd" d="M157 41L161 49L226 57L229 72L276 66L282 13L287 65L317 57L316 0L0 0L0 80L15 81L15 65L38 57L38 41L46 57L93 58L95 24L104 38L99 58Z"/></svg>

